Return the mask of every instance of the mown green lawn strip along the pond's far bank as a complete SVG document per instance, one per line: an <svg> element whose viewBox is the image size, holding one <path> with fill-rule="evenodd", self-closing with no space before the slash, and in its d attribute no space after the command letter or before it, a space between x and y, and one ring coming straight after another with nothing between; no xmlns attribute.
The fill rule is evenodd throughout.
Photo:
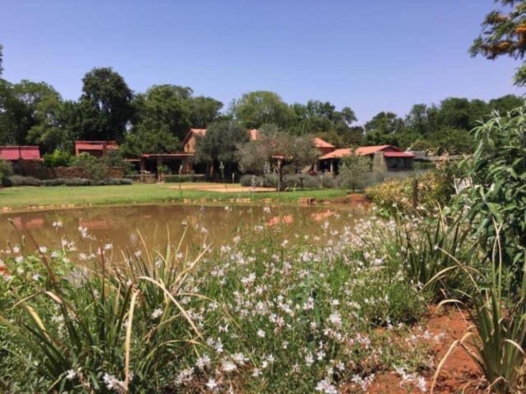
<svg viewBox="0 0 526 394"><path fill-rule="evenodd" d="M207 184L203 184L206 188ZM208 185L209 186L209 185ZM206 190L179 190L172 184L112 185L112 186L21 186L0 189L0 209L23 210L33 206L81 206L133 203L162 203L184 200L225 201L271 199L276 202L295 203L299 198L331 199L346 195L341 189L275 191L249 193Z"/></svg>

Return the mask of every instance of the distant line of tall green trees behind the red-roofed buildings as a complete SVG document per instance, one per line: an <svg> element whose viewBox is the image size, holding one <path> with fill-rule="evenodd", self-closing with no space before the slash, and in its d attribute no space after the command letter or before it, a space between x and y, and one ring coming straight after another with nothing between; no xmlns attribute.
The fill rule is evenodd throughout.
<svg viewBox="0 0 526 394"><path fill-rule="evenodd" d="M330 102L287 104L274 92L255 91L228 108L214 98L195 96L189 87L154 85L132 91L111 68L86 73L78 100L64 100L45 82L2 79L0 46L0 144L38 144L43 153L72 151L76 139L116 140L126 156L181 149L190 127L232 122L251 129L274 124L294 135L316 134L337 147L395 144L402 148L464 153L473 149L469 131L491 111L507 112L523 100L507 95L485 102L447 98L439 105L414 105L400 118L380 112L363 126L350 107Z"/></svg>

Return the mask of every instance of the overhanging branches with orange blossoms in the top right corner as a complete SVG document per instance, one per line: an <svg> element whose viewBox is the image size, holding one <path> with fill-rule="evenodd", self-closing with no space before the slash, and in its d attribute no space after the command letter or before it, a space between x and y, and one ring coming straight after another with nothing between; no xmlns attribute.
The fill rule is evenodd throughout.
<svg viewBox="0 0 526 394"><path fill-rule="evenodd" d="M523 59L526 50L526 2L524 0L495 0L503 6L510 6L508 13L502 9L491 11L482 22L482 33L473 41L471 56L482 55L494 60L508 55ZM526 85L526 64L518 68L514 76L518 86Z"/></svg>

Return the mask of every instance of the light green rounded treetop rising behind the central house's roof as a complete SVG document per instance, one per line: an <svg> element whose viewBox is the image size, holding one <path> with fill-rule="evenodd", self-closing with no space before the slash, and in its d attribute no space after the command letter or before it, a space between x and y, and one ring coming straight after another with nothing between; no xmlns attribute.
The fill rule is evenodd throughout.
<svg viewBox="0 0 526 394"><path fill-rule="evenodd" d="M231 112L247 129L257 129L266 123L286 128L292 120L292 110L276 93L259 90L244 94L232 103Z"/></svg>

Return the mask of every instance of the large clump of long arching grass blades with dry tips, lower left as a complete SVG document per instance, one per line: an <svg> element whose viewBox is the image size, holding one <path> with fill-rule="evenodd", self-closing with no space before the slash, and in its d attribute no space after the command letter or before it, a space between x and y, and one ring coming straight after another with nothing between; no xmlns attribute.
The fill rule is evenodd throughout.
<svg viewBox="0 0 526 394"><path fill-rule="evenodd" d="M67 277L56 275L64 256L34 260L45 267L42 286L0 315L0 325L22 346L12 354L42 380L18 389L130 392L169 385L170 362L203 346L180 299L192 296L184 283L204 251L187 260L180 245L164 254L125 254L119 265L100 253L89 272L76 269Z"/></svg>

